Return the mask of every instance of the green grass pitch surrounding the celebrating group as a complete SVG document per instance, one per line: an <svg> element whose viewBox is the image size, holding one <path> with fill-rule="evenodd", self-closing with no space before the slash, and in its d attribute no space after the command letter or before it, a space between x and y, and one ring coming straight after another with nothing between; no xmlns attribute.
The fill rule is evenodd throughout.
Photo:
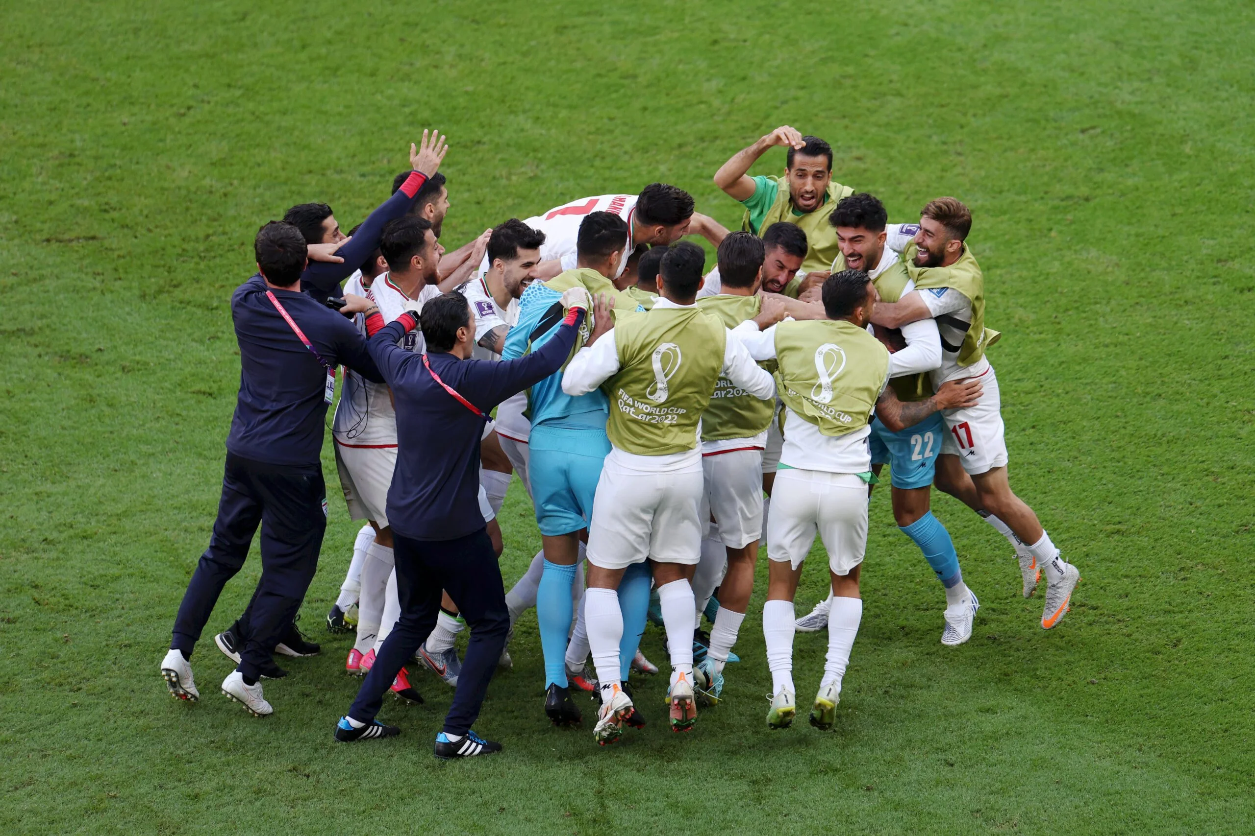
<svg viewBox="0 0 1255 836"><path fill-rule="evenodd" d="M10 4L0 832L1255 831L1251 31L1250 4L1210 0ZM451 246L659 179L733 226L710 177L783 123L894 218L971 206L1012 483L1083 575L1058 629L1001 538L939 498L984 604L941 647L940 590L880 494L830 733L763 724L761 585L692 734L665 731L659 679L622 746L550 728L527 614L478 723L501 757L432 757L451 693L424 673L425 706L385 703L400 738L336 745L358 681L320 619L355 526L326 444L302 622L324 654L267 683L266 721L217 693L208 642L202 701L167 696L238 382L230 291L262 222L318 199L348 228L438 125ZM538 548L517 484L502 520L512 583ZM797 638L799 701L825 644ZM655 629L643 647L664 661Z"/></svg>

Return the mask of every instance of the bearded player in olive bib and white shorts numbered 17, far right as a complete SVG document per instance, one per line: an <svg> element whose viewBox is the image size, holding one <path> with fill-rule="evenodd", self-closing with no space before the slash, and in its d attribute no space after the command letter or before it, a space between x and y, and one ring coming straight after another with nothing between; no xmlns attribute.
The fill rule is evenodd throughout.
<svg viewBox="0 0 1255 836"><path fill-rule="evenodd" d="M980 379L985 394L979 404L945 412L939 486L944 471L946 484L953 484L961 479L961 469L971 478L981 509L1027 544L1045 573L1042 628L1050 629L1067 614L1081 573L1059 556L1037 514L1012 493L998 377L985 358L985 348L999 333L985 327L985 280L965 243L970 231L971 212L960 201L944 197L929 202L904 252L915 290L897 302L877 306L872 322L899 328L919 320L936 320L941 366L932 372L934 385L959 377ZM1023 562L1020 569L1029 589Z"/></svg>

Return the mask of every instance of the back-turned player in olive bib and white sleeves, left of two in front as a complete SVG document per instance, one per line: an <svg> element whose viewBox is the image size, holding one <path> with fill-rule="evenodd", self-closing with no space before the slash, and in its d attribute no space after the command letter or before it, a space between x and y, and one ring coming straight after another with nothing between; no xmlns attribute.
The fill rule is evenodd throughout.
<svg viewBox="0 0 1255 836"><path fill-rule="evenodd" d="M621 684L624 614L616 589L630 567L646 560L653 563L671 661L671 729L693 727L697 614L689 579L705 528L702 414L720 376L761 400L776 396L772 376L750 360L734 333L694 303L704 266L705 256L695 244L671 247L663 257L653 310L611 321L595 308L592 333L562 374L562 391L572 397L602 385L611 392L606 424L611 451L592 506L585 593L602 703L594 737L601 745L616 741L633 713ZM754 323L748 327L757 330Z"/></svg>

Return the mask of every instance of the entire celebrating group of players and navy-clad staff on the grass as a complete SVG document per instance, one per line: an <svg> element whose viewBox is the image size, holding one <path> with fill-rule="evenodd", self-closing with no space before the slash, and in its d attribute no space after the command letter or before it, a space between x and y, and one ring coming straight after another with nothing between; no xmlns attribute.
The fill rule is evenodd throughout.
<svg viewBox="0 0 1255 836"><path fill-rule="evenodd" d="M783 175L750 177L773 147L787 149ZM449 208L435 173L443 155L443 137L424 134L422 149L412 147L413 170L349 238L325 204L294 207L290 224L259 234L259 274L233 308L247 357L222 516L162 662L173 696L198 699L192 647L259 521L271 568L245 615L218 634L240 664L223 692L269 714L259 678L286 674L271 652L319 651L292 622L324 525L311 511L321 478L305 426L331 402L336 365L346 371L336 465L351 516L368 525L328 627L356 632L350 673L388 659L340 718L336 739L399 734L374 712L389 679L397 696L422 702L402 667L415 662L456 688L435 755L499 752L469 726L493 666L512 666L508 642L531 607L543 656L537 712L557 726L580 723L572 692L585 691L599 702L597 743L644 728L631 676L658 672L639 648L651 619L666 638L668 726L692 731L699 706L745 696L727 666L737 661L763 544L767 726L787 728L797 714L796 633L826 627L809 722L831 728L865 617L868 500L885 465L894 520L941 584L941 644L968 642L981 604L932 514L934 485L1007 538L1025 598L1044 575L1042 628L1063 620L1079 573L1010 488L986 357L1000 335L985 325L984 273L963 202L936 198L917 222L890 223L876 197L832 180L828 143L783 125L715 173L744 207L739 232L694 212L683 189L651 183L510 218L447 253L438 241ZM680 241L694 234L717 247L709 272L703 251ZM282 358L279 376L252 360L266 352ZM294 404L305 435L277 417ZM447 417L437 426L424 415ZM471 445L464 454L441 442L451 421ZM405 439L427 457L402 468ZM287 459L267 459L280 450ZM502 550L497 513L512 474L532 501L542 548L507 594L492 555ZM423 508L414 496L430 501ZM457 520L448 540L446 518L430 511L444 503ZM407 529L395 535L404 555L400 545L394 553L394 518ZM828 595L798 618L816 536ZM447 562L442 549L463 546L442 544L463 539L492 572L467 577ZM454 649L464 628L457 597L472 627L466 668ZM703 614L709 634L699 629Z"/></svg>

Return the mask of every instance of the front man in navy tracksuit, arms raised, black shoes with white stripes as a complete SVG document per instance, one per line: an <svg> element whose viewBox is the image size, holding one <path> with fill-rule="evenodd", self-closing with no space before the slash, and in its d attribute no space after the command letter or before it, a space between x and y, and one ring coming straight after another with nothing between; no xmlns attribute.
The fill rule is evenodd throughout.
<svg viewBox="0 0 1255 836"><path fill-rule="evenodd" d="M397 345L415 325L408 313L370 338L370 356L392 387L397 406L397 469L388 490L388 521L402 614L348 716L336 724L336 739L400 733L374 717L397 672L435 627L441 590L446 589L471 627L471 642L444 729L435 737L435 756L501 751L499 743L471 731L510 629L501 569L479 513L479 437L491 409L566 362L587 306L587 291L567 291L551 312L562 320L557 333L535 353L505 362L471 358L474 317L466 297L457 292L423 307L427 353ZM545 323L545 330L550 327L552 321Z"/></svg>

